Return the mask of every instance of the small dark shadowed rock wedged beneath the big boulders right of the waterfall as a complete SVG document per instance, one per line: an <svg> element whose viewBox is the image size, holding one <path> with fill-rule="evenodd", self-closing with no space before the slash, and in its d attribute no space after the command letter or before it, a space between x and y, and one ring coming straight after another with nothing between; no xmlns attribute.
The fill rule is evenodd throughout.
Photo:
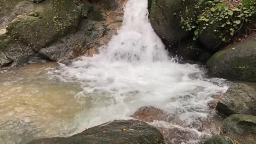
<svg viewBox="0 0 256 144"><path fill-rule="evenodd" d="M202 49L194 40L185 40L177 48L182 58L186 60L197 60Z"/></svg>

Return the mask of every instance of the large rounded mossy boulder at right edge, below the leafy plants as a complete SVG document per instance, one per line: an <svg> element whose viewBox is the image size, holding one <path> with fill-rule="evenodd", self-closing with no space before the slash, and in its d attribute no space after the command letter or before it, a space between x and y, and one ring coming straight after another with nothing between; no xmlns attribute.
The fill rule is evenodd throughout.
<svg viewBox="0 0 256 144"><path fill-rule="evenodd" d="M215 53L207 67L214 77L256 82L256 35Z"/></svg>

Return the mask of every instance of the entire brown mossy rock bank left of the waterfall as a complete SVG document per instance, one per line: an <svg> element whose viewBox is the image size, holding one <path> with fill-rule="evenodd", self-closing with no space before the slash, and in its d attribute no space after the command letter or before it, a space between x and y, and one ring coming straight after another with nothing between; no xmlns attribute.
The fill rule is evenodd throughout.
<svg viewBox="0 0 256 144"><path fill-rule="evenodd" d="M125 0L2 0L0 67L92 56L122 24Z"/></svg>

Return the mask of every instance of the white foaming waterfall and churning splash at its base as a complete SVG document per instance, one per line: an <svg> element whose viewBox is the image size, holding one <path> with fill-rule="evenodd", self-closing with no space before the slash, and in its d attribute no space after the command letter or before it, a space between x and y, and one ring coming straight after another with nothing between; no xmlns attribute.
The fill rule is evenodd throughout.
<svg viewBox="0 0 256 144"><path fill-rule="evenodd" d="M207 102L227 89L222 79L204 78L198 65L168 58L148 20L147 0L128 0L121 29L99 55L61 64L54 73L80 82L83 92L75 98L83 104L90 101L91 106L77 117L80 130L131 119L143 106L161 108L189 125L198 117L211 117ZM159 127L161 122L152 125Z"/></svg>

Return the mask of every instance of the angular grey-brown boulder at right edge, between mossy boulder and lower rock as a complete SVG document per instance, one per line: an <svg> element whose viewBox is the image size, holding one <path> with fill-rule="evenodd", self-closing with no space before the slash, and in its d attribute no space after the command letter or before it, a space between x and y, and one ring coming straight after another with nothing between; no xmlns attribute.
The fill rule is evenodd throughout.
<svg viewBox="0 0 256 144"><path fill-rule="evenodd" d="M216 110L226 116L231 114L256 116L256 89L244 83L232 84L218 102Z"/></svg>

